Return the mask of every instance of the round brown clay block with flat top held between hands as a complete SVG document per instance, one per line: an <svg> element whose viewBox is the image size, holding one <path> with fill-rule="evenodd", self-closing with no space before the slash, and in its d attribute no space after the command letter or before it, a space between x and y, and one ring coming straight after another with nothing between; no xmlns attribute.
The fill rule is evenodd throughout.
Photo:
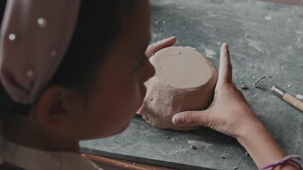
<svg viewBox="0 0 303 170"><path fill-rule="evenodd" d="M160 129L197 129L198 126L176 126L172 117L209 107L218 79L217 69L205 56L184 47L162 49L149 60L156 75L145 83L147 92L139 114Z"/></svg>

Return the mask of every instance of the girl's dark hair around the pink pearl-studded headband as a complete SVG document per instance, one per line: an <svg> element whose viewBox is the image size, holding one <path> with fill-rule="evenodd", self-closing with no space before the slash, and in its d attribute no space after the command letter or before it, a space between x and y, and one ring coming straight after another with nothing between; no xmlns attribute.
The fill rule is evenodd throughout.
<svg viewBox="0 0 303 170"><path fill-rule="evenodd" d="M0 26L7 0L0 0ZM82 0L73 37L66 54L47 84L60 84L77 91L86 91L105 58L108 48L119 35L123 0ZM0 84L0 105L5 113L28 115L32 104L13 102ZM2 109L4 109L2 107Z"/></svg>

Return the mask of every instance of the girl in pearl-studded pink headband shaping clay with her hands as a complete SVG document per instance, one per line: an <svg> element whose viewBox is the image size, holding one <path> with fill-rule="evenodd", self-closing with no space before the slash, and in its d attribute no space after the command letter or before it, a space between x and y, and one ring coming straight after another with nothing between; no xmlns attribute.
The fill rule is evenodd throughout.
<svg viewBox="0 0 303 170"><path fill-rule="evenodd" d="M98 169L78 154L79 140L126 129L155 74L147 57L176 38L147 48L147 0L0 2L0 169ZM235 137L258 167L285 158L236 88L227 44L220 54L211 107L172 121Z"/></svg>

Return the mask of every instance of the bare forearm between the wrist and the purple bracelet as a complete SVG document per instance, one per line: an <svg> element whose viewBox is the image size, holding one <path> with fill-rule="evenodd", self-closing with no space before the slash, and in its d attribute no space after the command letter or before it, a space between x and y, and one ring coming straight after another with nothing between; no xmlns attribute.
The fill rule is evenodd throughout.
<svg viewBox="0 0 303 170"><path fill-rule="evenodd" d="M245 147L258 168L262 168L286 157L281 147L261 124L258 124L255 128L243 130L243 134L239 135L237 140ZM287 162L274 169L295 170L298 168L293 163Z"/></svg>

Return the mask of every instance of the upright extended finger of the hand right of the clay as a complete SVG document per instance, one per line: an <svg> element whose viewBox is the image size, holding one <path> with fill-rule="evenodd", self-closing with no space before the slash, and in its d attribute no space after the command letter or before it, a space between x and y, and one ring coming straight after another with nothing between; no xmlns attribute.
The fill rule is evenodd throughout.
<svg viewBox="0 0 303 170"><path fill-rule="evenodd" d="M218 83L232 84L233 74L228 44L223 43L220 49L220 67Z"/></svg>

